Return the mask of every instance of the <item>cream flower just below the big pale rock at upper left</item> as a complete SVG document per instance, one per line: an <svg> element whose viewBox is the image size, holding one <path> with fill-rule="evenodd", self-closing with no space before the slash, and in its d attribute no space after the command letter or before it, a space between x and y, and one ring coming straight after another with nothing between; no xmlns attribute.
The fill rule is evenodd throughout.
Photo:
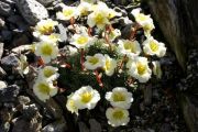
<svg viewBox="0 0 198 132"><path fill-rule="evenodd" d="M58 22L53 21L52 19L41 20L36 24L33 35L35 37L40 37L41 35L50 35L50 34L54 33L55 25L57 25L57 24L58 24Z"/></svg>

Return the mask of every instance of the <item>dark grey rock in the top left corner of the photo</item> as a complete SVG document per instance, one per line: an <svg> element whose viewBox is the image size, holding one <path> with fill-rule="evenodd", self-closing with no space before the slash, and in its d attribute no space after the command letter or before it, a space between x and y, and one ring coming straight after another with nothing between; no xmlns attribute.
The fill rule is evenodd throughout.
<svg viewBox="0 0 198 132"><path fill-rule="evenodd" d="M0 15L9 16L13 14L13 10L9 3L0 1Z"/></svg>

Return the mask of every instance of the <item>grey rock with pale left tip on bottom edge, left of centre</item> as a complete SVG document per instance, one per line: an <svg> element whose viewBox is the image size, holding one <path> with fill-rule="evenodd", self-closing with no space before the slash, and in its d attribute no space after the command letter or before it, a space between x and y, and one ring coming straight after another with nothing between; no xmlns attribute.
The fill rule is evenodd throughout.
<svg viewBox="0 0 198 132"><path fill-rule="evenodd" d="M42 132L66 132L67 125L65 121L56 121L54 123L50 123L43 128Z"/></svg>

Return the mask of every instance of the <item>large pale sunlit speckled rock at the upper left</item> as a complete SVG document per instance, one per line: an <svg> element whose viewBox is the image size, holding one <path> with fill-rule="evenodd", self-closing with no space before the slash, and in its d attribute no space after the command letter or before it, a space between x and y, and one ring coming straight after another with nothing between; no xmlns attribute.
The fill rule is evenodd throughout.
<svg viewBox="0 0 198 132"><path fill-rule="evenodd" d="M15 0L16 7L22 16L32 25L35 25L40 20L48 18L48 12L40 2L35 0Z"/></svg>

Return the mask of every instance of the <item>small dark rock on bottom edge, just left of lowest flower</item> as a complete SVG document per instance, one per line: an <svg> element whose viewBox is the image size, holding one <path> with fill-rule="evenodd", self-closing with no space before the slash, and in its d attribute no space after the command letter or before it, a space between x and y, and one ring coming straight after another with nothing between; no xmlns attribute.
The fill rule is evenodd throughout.
<svg viewBox="0 0 198 132"><path fill-rule="evenodd" d="M101 132L102 131L101 125L97 120L90 119L89 124L90 124L90 132Z"/></svg>

